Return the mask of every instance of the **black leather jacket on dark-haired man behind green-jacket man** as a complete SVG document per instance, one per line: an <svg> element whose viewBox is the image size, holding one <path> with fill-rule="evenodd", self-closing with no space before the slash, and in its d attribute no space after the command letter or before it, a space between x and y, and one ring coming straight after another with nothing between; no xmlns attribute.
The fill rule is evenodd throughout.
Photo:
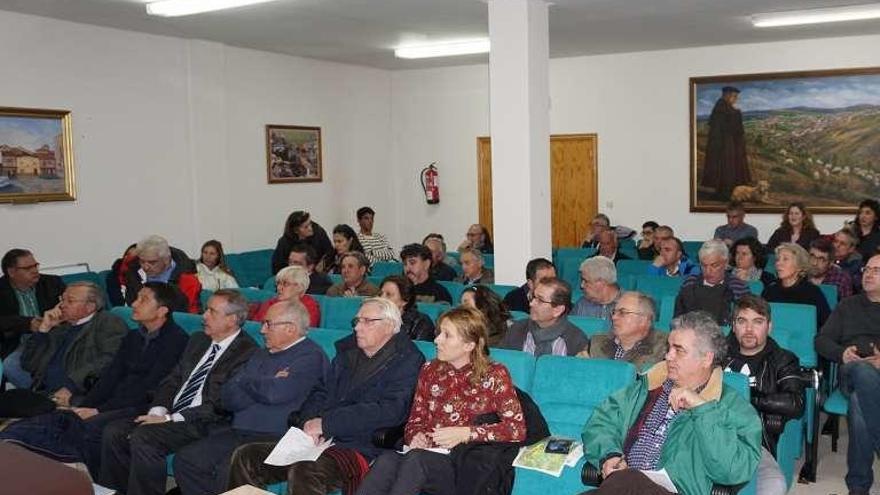
<svg viewBox="0 0 880 495"><path fill-rule="evenodd" d="M725 367L731 361L741 359L739 342L733 332L728 336L727 345ZM799 418L804 413L804 380L797 356L779 347L770 337L767 338L763 356L761 365L751 370L754 378L751 383L752 405L758 410L764 425L762 444L775 457L776 443L785 422Z"/></svg>

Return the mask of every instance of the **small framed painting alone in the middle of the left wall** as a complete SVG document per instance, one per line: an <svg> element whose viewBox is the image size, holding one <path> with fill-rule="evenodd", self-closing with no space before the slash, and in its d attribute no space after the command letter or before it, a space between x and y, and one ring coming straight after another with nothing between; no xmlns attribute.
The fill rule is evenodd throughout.
<svg viewBox="0 0 880 495"><path fill-rule="evenodd" d="M321 128L267 125L266 175L269 184L321 182Z"/></svg>

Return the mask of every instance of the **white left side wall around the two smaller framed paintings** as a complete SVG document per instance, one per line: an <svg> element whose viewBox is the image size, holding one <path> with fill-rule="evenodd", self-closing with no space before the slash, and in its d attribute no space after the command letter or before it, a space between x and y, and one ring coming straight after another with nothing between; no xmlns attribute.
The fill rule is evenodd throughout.
<svg viewBox="0 0 880 495"><path fill-rule="evenodd" d="M397 222L385 71L7 12L0 58L0 106L73 112L77 182L75 202L0 205L0 252L103 269L153 232L191 255L274 247L298 208L328 230L363 202ZM322 127L324 182L266 184L270 123Z"/></svg>

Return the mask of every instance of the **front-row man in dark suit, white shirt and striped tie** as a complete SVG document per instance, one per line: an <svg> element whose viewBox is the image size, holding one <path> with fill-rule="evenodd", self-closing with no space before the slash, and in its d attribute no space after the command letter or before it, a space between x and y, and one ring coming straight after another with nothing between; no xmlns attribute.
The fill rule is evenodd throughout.
<svg viewBox="0 0 880 495"><path fill-rule="evenodd" d="M208 300L205 331L190 337L147 414L120 420L104 430L102 485L132 495L165 493L165 456L229 427L220 389L256 350L241 331L248 314L244 297L218 290Z"/></svg>

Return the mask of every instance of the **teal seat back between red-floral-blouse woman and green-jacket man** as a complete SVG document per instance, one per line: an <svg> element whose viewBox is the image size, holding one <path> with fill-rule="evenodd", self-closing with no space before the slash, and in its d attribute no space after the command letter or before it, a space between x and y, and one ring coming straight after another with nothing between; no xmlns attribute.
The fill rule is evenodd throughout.
<svg viewBox="0 0 880 495"><path fill-rule="evenodd" d="M531 396L554 435L580 438L593 409L635 376L635 366L623 361L541 356Z"/></svg>

